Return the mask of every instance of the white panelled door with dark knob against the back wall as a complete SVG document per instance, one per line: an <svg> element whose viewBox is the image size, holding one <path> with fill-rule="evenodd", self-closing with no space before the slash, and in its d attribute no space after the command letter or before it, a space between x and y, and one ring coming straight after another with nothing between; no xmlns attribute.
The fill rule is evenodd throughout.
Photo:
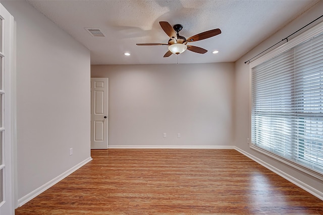
<svg viewBox="0 0 323 215"><path fill-rule="evenodd" d="M91 78L91 149L107 149L109 79Z"/></svg>

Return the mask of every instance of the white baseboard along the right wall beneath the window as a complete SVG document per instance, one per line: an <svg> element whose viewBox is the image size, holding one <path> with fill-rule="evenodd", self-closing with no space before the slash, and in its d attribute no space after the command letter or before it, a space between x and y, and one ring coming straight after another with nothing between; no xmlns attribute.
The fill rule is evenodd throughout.
<svg viewBox="0 0 323 215"><path fill-rule="evenodd" d="M302 181L300 181L300 180L298 180L298 179L296 179L296 178L294 178L294 177L286 174L285 172L277 169L276 167L274 167L274 166L272 166L272 165L270 165L270 164L268 164L268 163L266 163L266 162L264 162L264 161L256 158L255 156L253 156L253 155L251 155L251 154L249 154L249 153L247 153L247 152L239 149L238 147L234 147L234 148L235 148L235 150L237 150L241 154L243 154L243 155L247 156L248 158L250 158L251 160L257 162L261 166L264 166L265 168L273 171L274 173L276 173L276 174L282 176L283 178L285 178L286 180L292 182L296 186L299 186L303 190L306 190L307 192L311 193L312 195L316 196L317 198L323 200L323 193L320 192L319 190L317 190L317 189L315 189L315 188L313 188L313 187L305 184L304 182L302 182Z"/></svg>

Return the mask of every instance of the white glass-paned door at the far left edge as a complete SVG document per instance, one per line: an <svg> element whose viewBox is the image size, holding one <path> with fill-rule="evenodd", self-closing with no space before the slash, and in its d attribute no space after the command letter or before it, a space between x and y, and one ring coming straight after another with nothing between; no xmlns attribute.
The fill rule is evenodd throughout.
<svg viewBox="0 0 323 215"><path fill-rule="evenodd" d="M0 4L0 214L14 214L11 69L14 18Z"/></svg>

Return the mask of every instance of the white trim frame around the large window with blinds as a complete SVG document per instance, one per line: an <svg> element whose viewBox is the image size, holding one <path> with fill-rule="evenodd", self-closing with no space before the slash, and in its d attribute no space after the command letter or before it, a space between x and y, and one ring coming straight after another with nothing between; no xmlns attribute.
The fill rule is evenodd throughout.
<svg viewBox="0 0 323 215"><path fill-rule="evenodd" d="M257 66L258 64L266 61L266 60L269 60L309 39L311 39L312 37L320 34L320 33L323 33L323 22L315 25L314 27L310 28L309 30L303 32L302 34L296 36L295 38L289 40L288 42L284 43L283 45L273 49L272 51L270 52L267 52L265 53L264 55L258 57L257 59L253 60L252 62L249 63L249 125L250 125L250 130L249 130L249 139L250 139L250 144L249 144L249 147L255 151L258 151L264 155L267 155L271 158L274 158L275 160L278 160L284 164L287 164L297 170L300 170L306 174L309 174L317 179L320 179L323 181L323 174L318 172L318 171L315 171L315 170L312 170L306 166L303 166L301 164L298 164L294 161L291 161L291 160L288 160L286 158L283 158L279 155L276 155L270 151L267 151L265 149L262 149L260 147L257 147L256 145L254 145L251 141L252 141L252 138L251 138L251 135L252 135L252 68Z"/></svg>

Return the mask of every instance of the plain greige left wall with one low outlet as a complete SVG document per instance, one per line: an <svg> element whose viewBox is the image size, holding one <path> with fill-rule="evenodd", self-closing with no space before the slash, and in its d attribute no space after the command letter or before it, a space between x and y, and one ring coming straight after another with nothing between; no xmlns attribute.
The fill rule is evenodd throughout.
<svg viewBox="0 0 323 215"><path fill-rule="evenodd" d="M90 52L27 2L2 4L17 22L18 199L28 199L90 158Z"/></svg>

